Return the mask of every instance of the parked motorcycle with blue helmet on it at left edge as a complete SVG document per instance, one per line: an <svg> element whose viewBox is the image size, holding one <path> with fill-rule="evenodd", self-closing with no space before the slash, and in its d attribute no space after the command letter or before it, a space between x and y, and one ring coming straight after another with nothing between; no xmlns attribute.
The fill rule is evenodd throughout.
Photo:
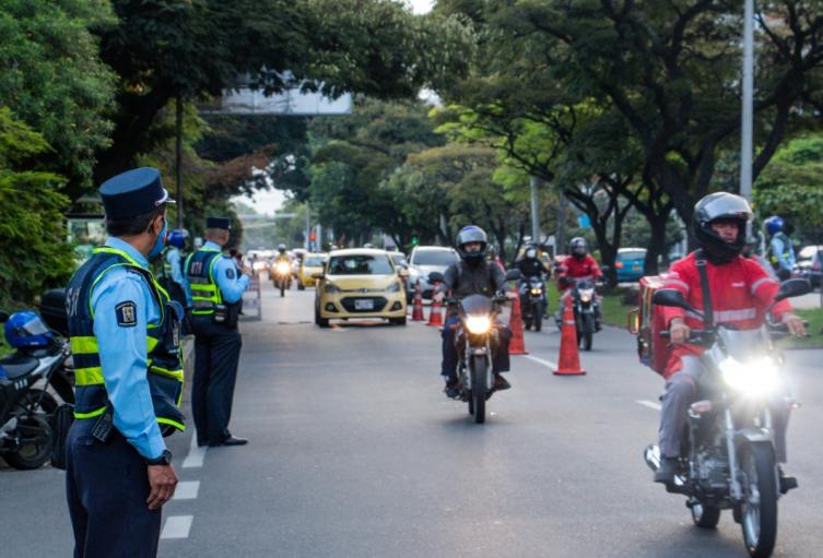
<svg viewBox="0 0 823 558"><path fill-rule="evenodd" d="M0 455L14 468L38 468L52 455L52 392L74 403L69 343L32 311L0 312L1 322L15 352L0 359Z"/></svg>

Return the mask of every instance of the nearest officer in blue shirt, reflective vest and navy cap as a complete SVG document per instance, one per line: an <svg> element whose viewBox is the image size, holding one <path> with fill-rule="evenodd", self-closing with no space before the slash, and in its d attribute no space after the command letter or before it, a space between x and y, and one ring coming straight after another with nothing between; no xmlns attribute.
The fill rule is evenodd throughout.
<svg viewBox="0 0 823 558"><path fill-rule="evenodd" d="M118 175L99 193L109 238L74 273L66 301L77 399L67 443L74 556L153 557L161 507L177 486L163 436L185 428L181 310L149 269L174 200L154 168Z"/></svg>

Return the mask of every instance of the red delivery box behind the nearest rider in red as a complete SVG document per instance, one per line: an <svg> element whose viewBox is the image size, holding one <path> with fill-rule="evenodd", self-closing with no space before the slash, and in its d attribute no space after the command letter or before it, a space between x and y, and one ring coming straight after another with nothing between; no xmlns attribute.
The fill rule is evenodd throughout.
<svg viewBox="0 0 823 558"><path fill-rule="evenodd" d="M663 288L661 275L640 277L639 308L630 313L630 331L637 335L637 356L640 363L662 375L671 356L669 340L660 336L666 331L663 307L651 304L655 292Z"/></svg>

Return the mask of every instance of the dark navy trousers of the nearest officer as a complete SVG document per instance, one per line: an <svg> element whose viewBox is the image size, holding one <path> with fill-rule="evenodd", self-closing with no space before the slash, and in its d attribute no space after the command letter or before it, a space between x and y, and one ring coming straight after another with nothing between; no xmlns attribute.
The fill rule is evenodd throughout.
<svg viewBox="0 0 823 558"><path fill-rule="evenodd" d="M92 438L95 420L74 420L67 441L74 558L153 558L161 510L145 503L151 491L145 461L116 429L106 443Z"/></svg>

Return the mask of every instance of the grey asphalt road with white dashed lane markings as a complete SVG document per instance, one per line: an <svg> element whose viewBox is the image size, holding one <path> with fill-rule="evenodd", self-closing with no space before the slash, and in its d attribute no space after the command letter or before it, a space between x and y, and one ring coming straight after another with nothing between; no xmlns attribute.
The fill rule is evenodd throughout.
<svg viewBox="0 0 823 558"><path fill-rule="evenodd" d="M662 382L634 339L606 329L588 371L555 377L560 335L527 333L514 385L485 425L442 393L439 335L419 323L311 322L314 292L275 296L242 324L231 429L240 448L171 439L186 484L164 510L163 557L741 557L728 512L693 527L650 482ZM780 500L775 556L820 556L820 352L791 352L804 405L789 430L800 489ZM540 361L543 360L543 361ZM193 429L193 427L192 427ZM187 465L187 466L185 466ZM0 556L70 556L62 473L0 470Z"/></svg>

